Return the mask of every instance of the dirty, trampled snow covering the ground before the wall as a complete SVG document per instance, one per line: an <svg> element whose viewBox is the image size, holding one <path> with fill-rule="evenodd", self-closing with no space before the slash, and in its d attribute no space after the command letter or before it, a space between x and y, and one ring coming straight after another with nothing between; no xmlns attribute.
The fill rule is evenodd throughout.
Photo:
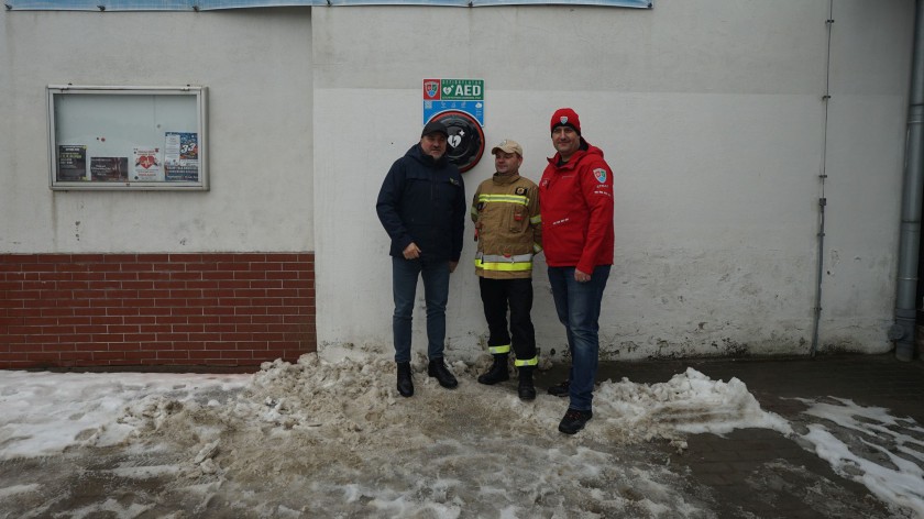
<svg viewBox="0 0 924 519"><path fill-rule="evenodd" d="M252 375L0 372L0 466L12 468L0 518L715 517L646 444L684 449L691 433L736 428L801 435L924 517L924 431L884 410L807 402L822 423L794 432L740 380L689 368L659 384L603 383L594 419L563 441L566 399L522 402L479 385L482 361L453 364L450 391L418 356L409 399L391 361L310 354ZM848 430L869 435L864 452L838 435ZM124 479L139 487L119 494ZM80 490L92 486L106 492Z"/></svg>

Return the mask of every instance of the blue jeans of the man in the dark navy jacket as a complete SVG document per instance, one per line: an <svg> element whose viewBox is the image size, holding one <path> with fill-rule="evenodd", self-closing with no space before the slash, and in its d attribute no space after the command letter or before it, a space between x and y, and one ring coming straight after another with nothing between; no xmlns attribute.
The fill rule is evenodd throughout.
<svg viewBox="0 0 924 519"><path fill-rule="evenodd" d="M449 262L421 262L392 256L392 292L395 297L392 331L395 335L395 362L410 362L410 324L418 276L424 278L424 299L427 301L427 356L431 361L443 356Z"/></svg>

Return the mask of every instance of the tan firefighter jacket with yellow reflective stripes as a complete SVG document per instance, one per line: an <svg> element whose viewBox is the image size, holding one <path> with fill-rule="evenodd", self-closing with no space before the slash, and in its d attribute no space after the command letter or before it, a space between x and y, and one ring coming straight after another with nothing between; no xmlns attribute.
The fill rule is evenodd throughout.
<svg viewBox="0 0 924 519"><path fill-rule="evenodd" d="M539 188L519 175L483 181L472 200L475 222L475 274L490 279L532 276L532 256L542 251Z"/></svg>

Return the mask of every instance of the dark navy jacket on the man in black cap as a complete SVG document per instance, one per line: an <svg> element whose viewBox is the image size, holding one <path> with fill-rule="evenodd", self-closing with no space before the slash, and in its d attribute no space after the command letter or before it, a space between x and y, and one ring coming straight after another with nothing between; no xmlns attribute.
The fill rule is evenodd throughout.
<svg viewBox="0 0 924 519"><path fill-rule="evenodd" d="M392 239L388 254L404 257L411 242L422 262L458 262L465 232L465 185L446 155L439 161L419 144L395 161L375 210Z"/></svg>

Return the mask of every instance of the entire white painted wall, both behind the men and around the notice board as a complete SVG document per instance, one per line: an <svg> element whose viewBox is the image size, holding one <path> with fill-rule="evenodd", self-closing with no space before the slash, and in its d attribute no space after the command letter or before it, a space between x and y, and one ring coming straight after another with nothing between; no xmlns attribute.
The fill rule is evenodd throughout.
<svg viewBox="0 0 924 519"><path fill-rule="evenodd" d="M421 128L425 77L480 78L488 145L538 179L570 106L616 173L609 357L807 353L820 174L821 345L890 347L912 0L658 0L592 7L4 12L0 252L315 251L318 338L392 354L375 198ZM116 29L113 29L116 27ZM208 192L53 192L48 84L209 87ZM465 174L468 192L493 162ZM78 225L77 222L80 222ZM471 228L469 229L471 235ZM449 355L483 352L466 239ZM534 319L564 342L546 268ZM424 347L422 301L415 349Z"/></svg>

